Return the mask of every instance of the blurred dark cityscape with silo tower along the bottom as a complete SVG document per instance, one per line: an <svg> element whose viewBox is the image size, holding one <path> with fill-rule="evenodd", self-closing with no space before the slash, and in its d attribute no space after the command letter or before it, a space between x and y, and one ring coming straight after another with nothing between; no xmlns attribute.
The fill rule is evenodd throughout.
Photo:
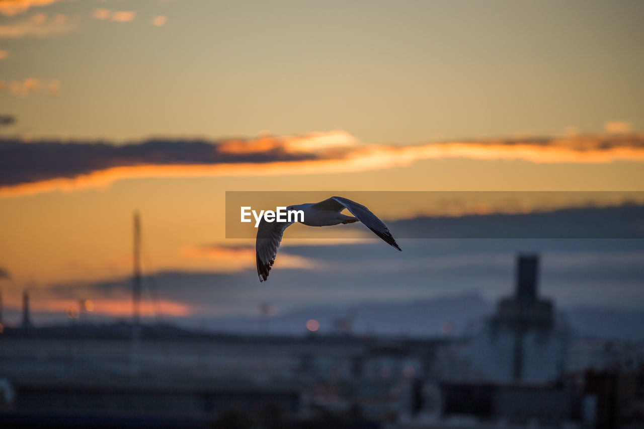
<svg viewBox="0 0 644 429"><path fill-rule="evenodd" d="M644 341L575 336L540 297L539 257L468 335L223 334L133 321L0 335L0 426L639 428ZM270 315L269 304L258 307ZM0 325L1 326L1 325Z"/></svg>

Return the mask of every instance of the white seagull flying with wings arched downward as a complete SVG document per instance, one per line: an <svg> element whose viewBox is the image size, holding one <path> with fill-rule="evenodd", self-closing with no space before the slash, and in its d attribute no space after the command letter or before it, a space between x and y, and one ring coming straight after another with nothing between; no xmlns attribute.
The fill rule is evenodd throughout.
<svg viewBox="0 0 644 429"><path fill-rule="evenodd" d="M354 216L346 216L341 211L347 209ZM362 222L366 227L382 238L386 243L392 245L399 251L403 251L393 239L392 233L389 232L387 225L383 223L374 213L362 204L343 198L341 196L332 196L324 201L317 203L289 205L287 211L303 211L304 218L301 224L308 226L331 226L339 224L353 224ZM279 243L281 242L284 230L294 222L267 222L261 219L257 229L257 239L255 241L255 254L257 257L257 274L260 281L265 281L269 276L269 271L275 262L278 254Z"/></svg>

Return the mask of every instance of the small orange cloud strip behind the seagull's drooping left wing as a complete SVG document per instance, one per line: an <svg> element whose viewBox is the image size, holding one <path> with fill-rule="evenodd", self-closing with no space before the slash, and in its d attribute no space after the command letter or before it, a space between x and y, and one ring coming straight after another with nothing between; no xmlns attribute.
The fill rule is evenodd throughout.
<svg viewBox="0 0 644 429"><path fill-rule="evenodd" d="M213 260L211 268L216 272L239 272L255 267L254 247L225 247L217 245L184 247L181 251L184 258L205 258ZM320 263L309 258L289 253L279 254L281 269L317 269Z"/></svg>

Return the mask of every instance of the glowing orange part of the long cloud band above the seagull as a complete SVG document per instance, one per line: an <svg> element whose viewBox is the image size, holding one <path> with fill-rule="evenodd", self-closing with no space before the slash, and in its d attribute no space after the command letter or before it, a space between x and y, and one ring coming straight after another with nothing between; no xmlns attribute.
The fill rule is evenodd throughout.
<svg viewBox="0 0 644 429"><path fill-rule="evenodd" d="M14 88L14 82L12 82L11 88L12 91L21 93L25 91L23 86ZM75 147L84 146L89 148L91 145ZM189 146L184 144L182 147L188 150ZM37 142L33 143L32 147L37 150ZM10 145L5 144L3 148L9 150ZM27 174L25 178L19 183L0 186L0 196L105 187L124 178L333 174L408 166L419 160L444 158L582 164L609 163L618 160L644 162L644 135L480 140L417 146L386 146L358 144L350 135L334 131L301 137L227 140L212 144L210 153L212 155L209 155L211 158L208 163L201 164L191 164L183 159L176 162L171 158L159 160L161 158L158 151L155 151L154 157L146 162L146 153L141 153L135 163L116 157L115 160L106 160L104 167L95 167L95 171L71 170L66 173L66 176L51 178L47 175L54 173L32 171L30 166L22 166L15 174ZM223 155L227 155L228 158ZM38 157L38 153L35 152L33 156ZM168 157L171 156L173 155L168 155ZM95 161L91 158L95 155L90 154L88 157L88 162L82 167L85 167L85 164L91 165L91 162ZM29 161L26 159L24 162ZM134 165L114 166L113 164L117 162ZM32 173L26 173L27 171ZM37 179L30 180L29 174L37 176Z"/></svg>

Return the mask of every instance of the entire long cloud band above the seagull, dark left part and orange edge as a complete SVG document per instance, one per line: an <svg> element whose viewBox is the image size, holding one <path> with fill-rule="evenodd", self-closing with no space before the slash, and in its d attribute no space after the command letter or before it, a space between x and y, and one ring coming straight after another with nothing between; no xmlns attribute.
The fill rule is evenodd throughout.
<svg viewBox="0 0 644 429"><path fill-rule="evenodd" d="M10 91L26 97L40 87L37 81L11 82ZM582 164L644 162L644 135L469 140L412 146L361 144L345 131L220 141L147 140L123 146L56 141L25 144L8 139L0 143L0 196L103 187L123 178L333 174L443 158Z"/></svg>

